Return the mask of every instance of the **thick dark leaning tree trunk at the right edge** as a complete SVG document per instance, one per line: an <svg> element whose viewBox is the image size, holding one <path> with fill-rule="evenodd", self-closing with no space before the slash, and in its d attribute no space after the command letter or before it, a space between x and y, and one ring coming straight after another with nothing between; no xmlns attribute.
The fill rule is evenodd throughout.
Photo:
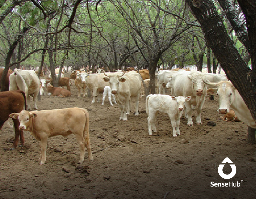
<svg viewBox="0 0 256 199"><path fill-rule="evenodd" d="M243 61L235 48L212 0L186 0L186 2L201 24L204 38L208 42L212 52L225 71L228 79L230 79L242 96L255 120L255 1L238 1L245 14L248 38L251 41L250 43L252 43L249 51L252 59L252 69L247 67L245 61ZM237 25L239 26L239 24ZM248 131L248 140L251 140L251 136L254 136L253 142L255 142L255 129L251 133Z"/></svg>

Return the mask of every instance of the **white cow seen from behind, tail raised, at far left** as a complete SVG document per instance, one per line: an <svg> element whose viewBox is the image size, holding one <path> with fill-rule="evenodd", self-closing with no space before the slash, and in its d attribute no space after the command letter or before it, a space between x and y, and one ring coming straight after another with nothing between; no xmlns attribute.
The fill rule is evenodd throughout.
<svg viewBox="0 0 256 199"><path fill-rule="evenodd" d="M26 95L28 110L31 109L30 96L33 95L34 109L37 110L37 95L40 92L40 80L34 70L14 69L10 74L10 91L22 90Z"/></svg>

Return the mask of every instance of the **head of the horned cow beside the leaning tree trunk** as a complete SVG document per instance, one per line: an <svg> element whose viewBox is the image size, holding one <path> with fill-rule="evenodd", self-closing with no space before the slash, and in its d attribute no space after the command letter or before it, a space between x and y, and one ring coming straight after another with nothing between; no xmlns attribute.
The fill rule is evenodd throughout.
<svg viewBox="0 0 256 199"><path fill-rule="evenodd" d="M218 83L205 82L216 88L207 89L209 94L217 94L219 96L219 113L226 114L230 112L230 105L234 101L235 87L230 81L221 81Z"/></svg>

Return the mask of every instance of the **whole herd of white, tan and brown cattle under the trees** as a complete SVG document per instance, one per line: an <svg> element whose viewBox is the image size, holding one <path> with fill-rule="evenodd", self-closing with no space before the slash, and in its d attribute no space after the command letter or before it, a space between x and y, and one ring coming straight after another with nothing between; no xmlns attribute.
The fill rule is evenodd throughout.
<svg viewBox="0 0 256 199"><path fill-rule="evenodd" d="M2 73L2 70L1 70ZM56 71L56 76L59 71ZM70 78L61 77L59 87L52 86L52 79L39 79L34 70L15 69L8 73L6 79L6 91L1 92L1 128L5 121L11 117L14 122L15 139L13 148L17 147L20 137L24 144L23 130L27 130L40 141L40 164L46 161L47 139L52 136L62 135L67 137L73 133L79 143L80 160L85 159L85 148L89 154L89 160L93 160L89 138L89 114L84 108L63 108L55 110L38 111L37 95L51 95L58 97L70 97L70 79L78 88L78 97L86 97L88 88L92 91L92 102L100 102L100 93L103 93L103 102L108 96L110 105L118 103L120 108L120 120L127 121L131 113L131 98L135 98L135 116L139 115L138 103L143 94L144 85L149 85L148 70L117 71L87 73L85 70L77 70L71 73ZM219 113L235 114L233 120L239 119L248 126L255 128L248 107L245 105L239 92L234 88L227 77L222 74L209 74L199 71L187 70L161 70L157 74L159 94L150 94L146 97L146 113L148 114L148 132L152 135L156 132L156 116L159 112L167 113L171 120L173 136L180 135L179 124L182 113L185 112L187 125L193 126L192 109L196 111L196 124L200 125L201 110L208 94L219 96ZM63 87L66 86L67 89ZM165 88L171 89L171 96L165 95ZM163 94L161 94L163 92ZM34 111L31 110L30 97L33 98ZM132 116L130 116L132 117ZM55 121L62 121L56 123Z"/></svg>

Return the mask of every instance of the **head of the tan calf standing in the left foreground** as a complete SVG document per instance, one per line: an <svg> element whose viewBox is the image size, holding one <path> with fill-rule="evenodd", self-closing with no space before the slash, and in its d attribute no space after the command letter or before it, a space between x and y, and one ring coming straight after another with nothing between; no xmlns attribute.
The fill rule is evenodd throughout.
<svg viewBox="0 0 256 199"><path fill-rule="evenodd" d="M37 117L36 113L30 113L29 111L21 111L20 113L12 113L10 117L13 119L19 119L20 130L28 130L29 127L32 125L33 118Z"/></svg>

